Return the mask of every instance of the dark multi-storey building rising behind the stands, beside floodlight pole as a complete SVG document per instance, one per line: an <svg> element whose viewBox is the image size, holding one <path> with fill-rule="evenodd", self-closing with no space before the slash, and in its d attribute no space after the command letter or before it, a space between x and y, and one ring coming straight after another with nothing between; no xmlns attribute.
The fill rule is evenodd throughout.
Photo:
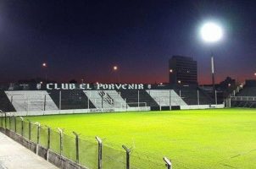
<svg viewBox="0 0 256 169"><path fill-rule="evenodd" d="M173 56L169 60L170 85L198 84L198 63L192 57Z"/></svg>

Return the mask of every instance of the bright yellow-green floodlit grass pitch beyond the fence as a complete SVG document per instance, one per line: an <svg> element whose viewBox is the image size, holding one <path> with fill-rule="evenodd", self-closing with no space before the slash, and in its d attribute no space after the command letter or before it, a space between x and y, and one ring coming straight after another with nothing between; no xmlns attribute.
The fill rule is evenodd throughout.
<svg viewBox="0 0 256 169"><path fill-rule="evenodd" d="M81 138L103 139L118 149L133 147L180 168L256 168L256 110L212 109L172 112L122 112L27 117Z"/></svg>

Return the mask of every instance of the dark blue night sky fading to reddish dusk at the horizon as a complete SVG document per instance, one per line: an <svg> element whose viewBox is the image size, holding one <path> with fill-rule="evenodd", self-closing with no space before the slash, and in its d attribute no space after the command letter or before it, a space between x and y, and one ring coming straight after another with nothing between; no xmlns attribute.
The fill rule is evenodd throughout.
<svg viewBox="0 0 256 169"><path fill-rule="evenodd" d="M0 0L0 82L46 71L59 82L168 82L168 60L185 55L198 61L199 83L210 83L210 51L218 82L253 79L255 11L243 0ZM198 35L207 20L225 30L214 45Z"/></svg>

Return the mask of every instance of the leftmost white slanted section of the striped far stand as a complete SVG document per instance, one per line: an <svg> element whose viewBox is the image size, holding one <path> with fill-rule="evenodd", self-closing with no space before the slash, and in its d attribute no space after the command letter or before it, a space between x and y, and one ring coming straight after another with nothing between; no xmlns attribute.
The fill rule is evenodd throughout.
<svg viewBox="0 0 256 169"><path fill-rule="evenodd" d="M46 90L5 91L17 112L58 110Z"/></svg>

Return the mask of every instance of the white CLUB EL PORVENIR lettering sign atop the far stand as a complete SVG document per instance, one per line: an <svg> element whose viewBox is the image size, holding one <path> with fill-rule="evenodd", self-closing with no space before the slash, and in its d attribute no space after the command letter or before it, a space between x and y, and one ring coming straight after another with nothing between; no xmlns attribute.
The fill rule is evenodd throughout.
<svg viewBox="0 0 256 169"><path fill-rule="evenodd" d="M149 88L149 86L147 86ZM41 84L36 88L41 89ZM47 84L47 90L144 90L143 84Z"/></svg>

